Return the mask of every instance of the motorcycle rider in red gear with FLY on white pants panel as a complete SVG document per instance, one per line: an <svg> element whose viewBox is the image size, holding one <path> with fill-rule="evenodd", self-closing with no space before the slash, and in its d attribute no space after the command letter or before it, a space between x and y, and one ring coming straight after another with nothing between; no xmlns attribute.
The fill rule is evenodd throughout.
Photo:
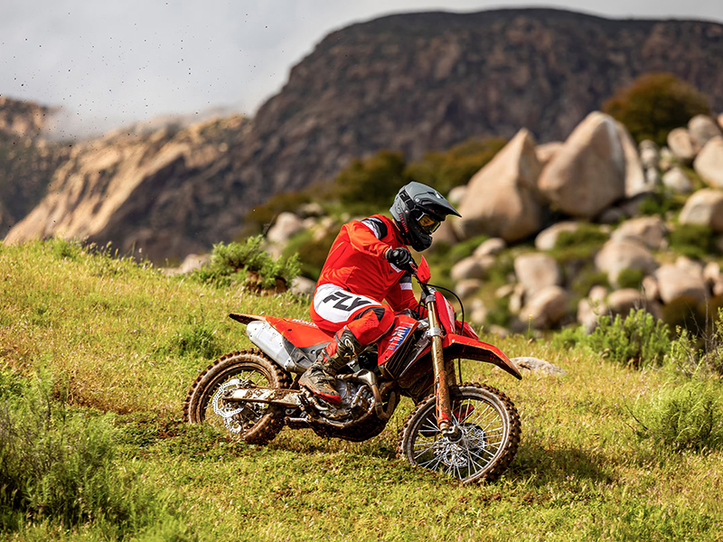
<svg viewBox="0 0 723 542"><path fill-rule="evenodd" d="M395 313L417 307L408 247L426 250L446 216L460 216L420 182L397 192L390 213L392 219L379 214L344 224L316 283L311 317L334 337L299 384L330 403L341 400L335 387L339 369L388 332Z"/></svg>

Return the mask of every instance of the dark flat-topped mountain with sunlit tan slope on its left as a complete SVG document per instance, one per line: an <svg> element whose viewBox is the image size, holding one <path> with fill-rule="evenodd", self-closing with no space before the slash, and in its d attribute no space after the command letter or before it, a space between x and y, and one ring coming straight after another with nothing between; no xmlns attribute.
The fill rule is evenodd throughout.
<svg viewBox="0 0 723 542"><path fill-rule="evenodd" d="M723 26L549 9L354 24L324 38L250 122L74 145L5 242L60 233L181 258L230 240L255 205L331 179L353 157L390 148L414 160L521 127L539 143L563 139L648 71L676 74L723 110Z"/></svg>

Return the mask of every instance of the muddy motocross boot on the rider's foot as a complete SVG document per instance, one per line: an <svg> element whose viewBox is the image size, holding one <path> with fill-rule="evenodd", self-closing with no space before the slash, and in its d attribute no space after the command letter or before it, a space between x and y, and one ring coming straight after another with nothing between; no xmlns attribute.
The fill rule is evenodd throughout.
<svg viewBox="0 0 723 542"><path fill-rule="evenodd" d="M311 367L306 369L299 379L299 385L330 403L338 404L342 397L336 391L336 373L363 348L352 332L346 328L339 330Z"/></svg>

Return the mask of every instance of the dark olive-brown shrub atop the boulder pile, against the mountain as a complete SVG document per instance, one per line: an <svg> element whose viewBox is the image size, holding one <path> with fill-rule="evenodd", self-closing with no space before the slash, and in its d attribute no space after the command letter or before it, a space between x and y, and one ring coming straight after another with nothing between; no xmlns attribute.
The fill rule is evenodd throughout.
<svg viewBox="0 0 723 542"><path fill-rule="evenodd" d="M603 104L637 143L652 139L666 145L668 133L691 117L708 115L708 98L671 73L645 73Z"/></svg>

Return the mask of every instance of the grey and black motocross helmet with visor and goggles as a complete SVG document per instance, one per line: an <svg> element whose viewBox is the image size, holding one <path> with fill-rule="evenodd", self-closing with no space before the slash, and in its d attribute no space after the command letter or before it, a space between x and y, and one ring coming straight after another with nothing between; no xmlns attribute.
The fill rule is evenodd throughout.
<svg viewBox="0 0 723 542"><path fill-rule="evenodd" d="M399 189L390 207L404 242L417 251L432 244L432 233L446 215L461 216L445 197L421 182L409 182Z"/></svg>

